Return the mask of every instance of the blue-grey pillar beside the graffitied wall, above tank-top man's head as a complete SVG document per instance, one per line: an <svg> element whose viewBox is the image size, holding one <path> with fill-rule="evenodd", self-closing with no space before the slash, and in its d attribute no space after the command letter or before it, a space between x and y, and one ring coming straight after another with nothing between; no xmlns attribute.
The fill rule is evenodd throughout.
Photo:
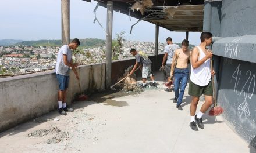
<svg viewBox="0 0 256 153"><path fill-rule="evenodd" d="M204 24L202 31L211 32L212 0L204 1Z"/></svg>

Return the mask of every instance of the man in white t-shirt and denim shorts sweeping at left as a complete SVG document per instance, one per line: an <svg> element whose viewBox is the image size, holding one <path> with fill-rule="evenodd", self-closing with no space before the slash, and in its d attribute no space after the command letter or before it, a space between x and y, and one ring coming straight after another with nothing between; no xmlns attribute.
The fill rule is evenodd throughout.
<svg viewBox="0 0 256 153"><path fill-rule="evenodd" d="M55 67L56 78L58 79L58 111L61 115L66 115L67 109L66 97L67 97L67 88L69 87L69 72L70 67L74 71L76 78L79 79L79 76L76 71L77 64L73 64L72 61L72 52L70 49L75 50L80 45L80 41L77 38L74 38L69 45L63 45L59 49L57 63Z"/></svg>

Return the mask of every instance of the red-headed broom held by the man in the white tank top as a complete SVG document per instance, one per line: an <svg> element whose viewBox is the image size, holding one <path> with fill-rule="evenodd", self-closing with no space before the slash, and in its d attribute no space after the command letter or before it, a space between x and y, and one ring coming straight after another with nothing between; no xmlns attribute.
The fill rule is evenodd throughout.
<svg viewBox="0 0 256 153"><path fill-rule="evenodd" d="M212 59L211 59L211 70L213 70ZM210 116L218 116L218 115L221 115L222 112L224 112L224 110L222 107L217 106L217 104L216 104L216 93L215 93L215 88L214 88L214 75L212 75L212 89L214 90L214 107L212 107L211 110L209 111L209 115Z"/></svg>

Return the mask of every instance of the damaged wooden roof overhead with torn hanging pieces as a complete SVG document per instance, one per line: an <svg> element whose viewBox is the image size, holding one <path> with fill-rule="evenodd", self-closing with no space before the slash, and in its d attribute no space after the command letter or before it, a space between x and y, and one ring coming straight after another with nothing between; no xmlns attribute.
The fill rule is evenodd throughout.
<svg viewBox="0 0 256 153"><path fill-rule="evenodd" d="M108 2L105 0L94 1L99 2L99 6L104 7ZM143 0L136 1L142 2ZM170 31L202 32L204 20L203 0L152 0L152 7L145 8L143 14L141 14L140 10L131 10L136 1L112 0L113 10L134 17L138 21L144 20L159 25L159 27Z"/></svg>

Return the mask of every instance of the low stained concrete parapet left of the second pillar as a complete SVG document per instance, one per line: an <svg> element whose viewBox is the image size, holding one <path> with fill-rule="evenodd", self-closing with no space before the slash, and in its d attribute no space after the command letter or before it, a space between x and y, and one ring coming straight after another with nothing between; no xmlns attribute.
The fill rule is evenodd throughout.
<svg viewBox="0 0 256 153"><path fill-rule="evenodd" d="M81 90L105 89L105 64L78 68ZM74 73L70 73L67 104L80 93ZM54 72L0 79L0 132L58 107L58 83Z"/></svg>

